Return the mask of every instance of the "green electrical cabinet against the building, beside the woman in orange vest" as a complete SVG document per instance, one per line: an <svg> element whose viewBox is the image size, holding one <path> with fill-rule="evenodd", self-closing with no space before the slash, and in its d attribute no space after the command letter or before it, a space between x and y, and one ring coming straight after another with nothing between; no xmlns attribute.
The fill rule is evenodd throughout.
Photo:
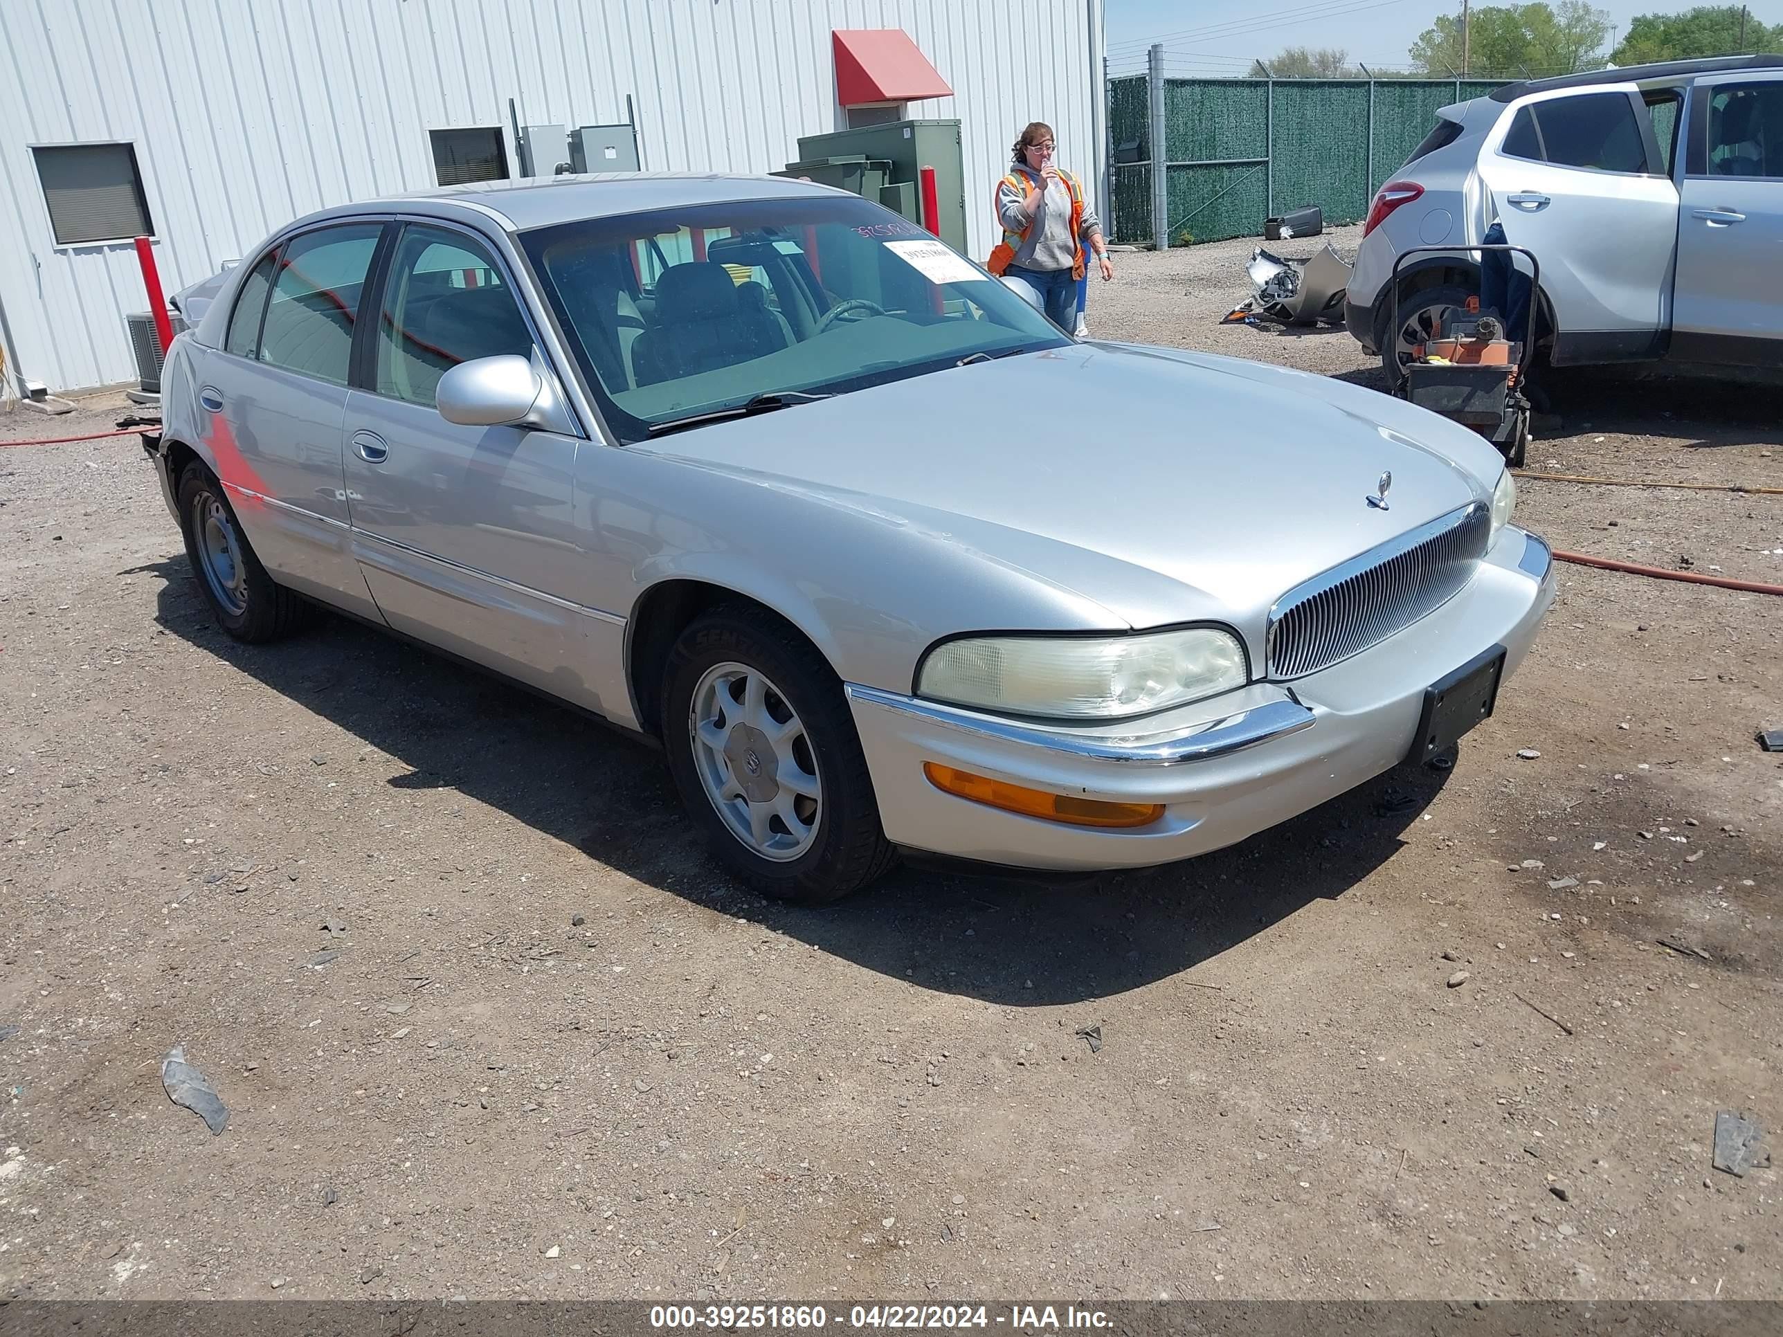
<svg viewBox="0 0 1783 1337"><path fill-rule="evenodd" d="M922 226L922 169L934 168L941 241L966 250L966 169L959 121L888 121L802 135L799 162L776 176L809 176L820 185L852 191ZM990 198L990 184L984 187ZM986 205L988 207L988 205Z"/></svg>

